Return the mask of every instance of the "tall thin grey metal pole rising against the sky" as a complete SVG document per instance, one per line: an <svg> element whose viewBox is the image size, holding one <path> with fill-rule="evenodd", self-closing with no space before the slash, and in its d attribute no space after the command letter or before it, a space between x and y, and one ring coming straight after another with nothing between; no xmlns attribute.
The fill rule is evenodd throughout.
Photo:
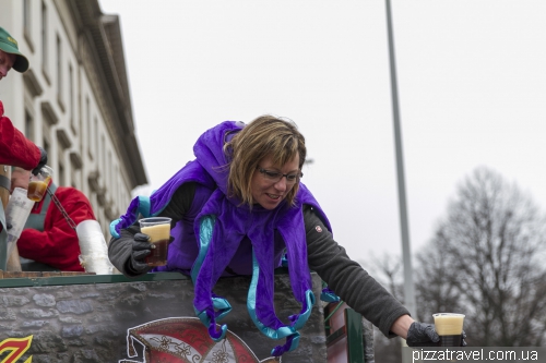
<svg viewBox="0 0 546 363"><path fill-rule="evenodd" d="M394 37L392 32L391 1L387 3L387 29L389 35L389 60L391 65L392 116L394 121L394 145L396 147L396 173L399 184L400 229L402 234L402 256L404 261L404 301L412 316L416 316L416 303L412 277L412 253L407 225L406 192L404 180L404 158L402 155L402 132L400 130L399 90L396 86L396 64L394 61Z"/></svg>

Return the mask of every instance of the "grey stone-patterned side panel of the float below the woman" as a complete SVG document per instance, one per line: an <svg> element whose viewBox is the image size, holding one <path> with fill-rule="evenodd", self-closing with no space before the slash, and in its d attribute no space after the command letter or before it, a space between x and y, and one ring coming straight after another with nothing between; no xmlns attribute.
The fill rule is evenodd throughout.
<svg viewBox="0 0 546 363"><path fill-rule="evenodd" d="M154 281L126 279L109 283L1 288L0 341L33 336L31 348L16 362L25 362L31 355L33 363L144 362L142 352L139 356L128 356L128 329L169 317L194 317L191 280L179 276L179 279ZM5 286L7 280L3 281L0 286ZM285 353L282 362L327 362L320 282L313 274L317 303L300 330L298 349ZM259 360L264 360L284 339L271 340L256 328L246 307L249 283L250 279L244 277L221 279L215 293L233 306L221 323L227 324ZM294 300L287 275L276 276L275 310L285 323L288 315L299 313L300 305Z"/></svg>

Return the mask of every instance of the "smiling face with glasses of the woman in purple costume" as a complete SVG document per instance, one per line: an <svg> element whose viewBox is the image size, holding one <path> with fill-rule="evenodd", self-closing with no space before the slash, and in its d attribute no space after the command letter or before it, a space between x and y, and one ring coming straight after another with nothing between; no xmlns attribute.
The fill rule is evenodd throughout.
<svg viewBox="0 0 546 363"><path fill-rule="evenodd" d="M271 156L263 158L252 174L251 189L254 203L265 209L276 208L299 181L299 178L294 181L294 176L299 176L299 155L297 154L294 159L282 166L274 165Z"/></svg>

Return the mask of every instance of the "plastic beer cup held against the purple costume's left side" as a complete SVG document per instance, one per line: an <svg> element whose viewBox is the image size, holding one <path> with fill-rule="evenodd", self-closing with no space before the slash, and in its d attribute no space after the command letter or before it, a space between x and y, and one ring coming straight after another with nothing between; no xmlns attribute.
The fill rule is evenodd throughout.
<svg viewBox="0 0 546 363"><path fill-rule="evenodd" d="M150 235L150 243L155 245L152 253L146 256L149 266L165 266L170 240L170 218L150 217L139 220L141 233Z"/></svg>

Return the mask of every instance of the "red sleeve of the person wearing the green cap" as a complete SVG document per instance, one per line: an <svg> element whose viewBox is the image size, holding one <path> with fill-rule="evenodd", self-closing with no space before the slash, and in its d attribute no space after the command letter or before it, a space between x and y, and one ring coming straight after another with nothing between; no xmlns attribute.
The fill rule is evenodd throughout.
<svg viewBox="0 0 546 363"><path fill-rule="evenodd" d="M0 164L32 170L39 159L39 148L3 116L3 104L0 101Z"/></svg>

